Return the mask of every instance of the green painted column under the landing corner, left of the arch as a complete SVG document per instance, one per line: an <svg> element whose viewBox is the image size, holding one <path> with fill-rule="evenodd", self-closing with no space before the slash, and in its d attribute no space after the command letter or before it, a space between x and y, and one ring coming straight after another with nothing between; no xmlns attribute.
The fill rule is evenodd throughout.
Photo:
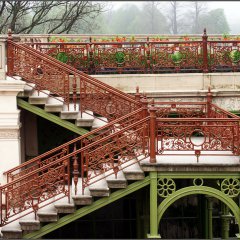
<svg viewBox="0 0 240 240"><path fill-rule="evenodd" d="M150 172L150 233L148 238L160 238L157 220L157 172Z"/></svg>

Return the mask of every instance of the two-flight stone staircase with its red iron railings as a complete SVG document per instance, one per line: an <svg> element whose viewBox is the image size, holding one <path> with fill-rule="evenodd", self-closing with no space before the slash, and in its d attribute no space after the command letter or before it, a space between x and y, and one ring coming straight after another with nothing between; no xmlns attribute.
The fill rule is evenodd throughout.
<svg viewBox="0 0 240 240"><path fill-rule="evenodd" d="M149 156L146 101L11 39L8 75L27 83L19 97L28 104L92 131L5 173L7 184L0 187L3 238L43 236L42 223L61 226L59 214L87 214L99 201L101 207L118 193L124 196L149 184L139 164Z"/></svg>

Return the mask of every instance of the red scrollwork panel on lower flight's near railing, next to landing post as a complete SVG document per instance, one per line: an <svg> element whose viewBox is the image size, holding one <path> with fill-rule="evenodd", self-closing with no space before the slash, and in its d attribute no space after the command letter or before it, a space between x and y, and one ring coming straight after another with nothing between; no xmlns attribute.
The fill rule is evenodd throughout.
<svg viewBox="0 0 240 240"><path fill-rule="evenodd" d="M82 171L87 173L82 182L83 191L102 174L114 172L117 176L120 169L146 158L149 155L148 139L149 121L145 119L87 146L82 152Z"/></svg>

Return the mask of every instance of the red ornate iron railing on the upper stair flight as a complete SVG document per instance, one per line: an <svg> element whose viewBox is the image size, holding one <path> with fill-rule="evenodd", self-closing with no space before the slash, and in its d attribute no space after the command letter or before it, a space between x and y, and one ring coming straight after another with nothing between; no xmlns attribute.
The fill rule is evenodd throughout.
<svg viewBox="0 0 240 240"><path fill-rule="evenodd" d="M140 108L128 94L29 47L8 41L8 75L35 83L36 90L49 90L81 113L91 110L109 121ZM70 91L70 88L72 91Z"/></svg>

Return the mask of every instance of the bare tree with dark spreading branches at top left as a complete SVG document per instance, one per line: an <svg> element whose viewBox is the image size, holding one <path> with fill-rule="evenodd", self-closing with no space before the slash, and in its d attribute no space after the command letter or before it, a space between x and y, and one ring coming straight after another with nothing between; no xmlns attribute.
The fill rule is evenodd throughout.
<svg viewBox="0 0 240 240"><path fill-rule="evenodd" d="M88 25L86 23L104 7L103 3L91 1L3 0L0 2L0 32L11 28L15 33L32 33L36 29L42 33L70 33Z"/></svg>

